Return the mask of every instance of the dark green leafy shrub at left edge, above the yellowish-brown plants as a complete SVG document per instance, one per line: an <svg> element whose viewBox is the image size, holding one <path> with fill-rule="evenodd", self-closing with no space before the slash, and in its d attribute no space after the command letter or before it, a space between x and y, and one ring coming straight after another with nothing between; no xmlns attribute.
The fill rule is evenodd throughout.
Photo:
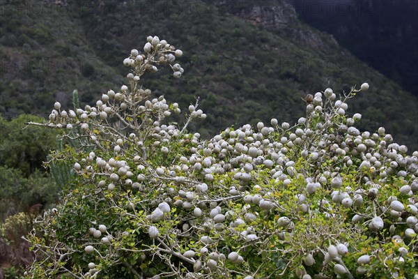
<svg viewBox="0 0 418 279"><path fill-rule="evenodd" d="M11 213L29 211L33 204L52 204L58 189L42 167L56 148L54 130L26 126L27 121L42 121L38 116L22 114L12 121L0 117L0 220Z"/></svg>

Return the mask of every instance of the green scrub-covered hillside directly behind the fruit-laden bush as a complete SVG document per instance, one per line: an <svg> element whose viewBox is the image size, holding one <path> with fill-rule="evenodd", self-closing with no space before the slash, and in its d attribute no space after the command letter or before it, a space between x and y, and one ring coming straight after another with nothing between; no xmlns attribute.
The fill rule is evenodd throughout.
<svg viewBox="0 0 418 279"><path fill-rule="evenodd" d="M13 5L20 3L38 2ZM369 82L371 92L353 102L353 110L367 119L360 128L385 126L398 142L417 147L417 98L297 20L289 29L269 31L210 1L70 1L42 7L38 13L5 9L0 15L0 112L5 117L46 116L54 100L70 103L67 92L75 88L82 103L114 89L121 83L118 74L124 74L123 53L158 33L176 38L176 47L187 50L185 75L169 83L162 70L145 85L183 106L200 97L209 117L204 126L192 127L203 137L270 116L293 122L304 111L300 98L307 93L323 86L349 91L352 84ZM316 44L309 43L311 37Z"/></svg>

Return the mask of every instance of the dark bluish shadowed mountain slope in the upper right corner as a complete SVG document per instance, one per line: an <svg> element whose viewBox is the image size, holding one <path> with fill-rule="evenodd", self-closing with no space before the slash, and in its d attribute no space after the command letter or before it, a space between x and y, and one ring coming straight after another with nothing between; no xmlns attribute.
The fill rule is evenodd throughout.
<svg viewBox="0 0 418 279"><path fill-rule="evenodd" d="M288 1L301 20L418 96L417 1Z"/></svg>

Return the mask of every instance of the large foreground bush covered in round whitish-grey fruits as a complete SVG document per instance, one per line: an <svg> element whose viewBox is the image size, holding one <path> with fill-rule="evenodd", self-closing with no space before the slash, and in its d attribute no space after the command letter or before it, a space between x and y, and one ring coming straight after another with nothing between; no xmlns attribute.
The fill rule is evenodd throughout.
<svg viewBox="0 0 418 279"><path fill-rule="evenodd" d="M384 128L355 128L332 89L308 95L295 125L188 133L163 96L141 86L181 52L148 37L132 50L128 86L49 123L79 146L52 154L74 166L58 211L29 237L31 278L418 278L418 151ZM33 123L35 124L35 123ZM390 275L389 275L390 274ZM415 276L414 276L415 274Z"/></svg>

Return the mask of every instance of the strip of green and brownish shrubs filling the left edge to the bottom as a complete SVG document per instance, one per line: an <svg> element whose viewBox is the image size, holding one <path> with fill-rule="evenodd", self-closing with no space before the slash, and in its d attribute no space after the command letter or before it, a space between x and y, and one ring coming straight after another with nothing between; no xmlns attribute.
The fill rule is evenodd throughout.
<svg viewBox="0 0 418 279"><path fill-rule="evenodd" d="M21 236L32 229L32 218L59 200L59 186L42 167L56 149L58 133L25 125L42 120L29 114L11 121L0 116L0 267L12 266L4 273L0 269L0 278L19 278L22 266L32 261Z"/></svg>

